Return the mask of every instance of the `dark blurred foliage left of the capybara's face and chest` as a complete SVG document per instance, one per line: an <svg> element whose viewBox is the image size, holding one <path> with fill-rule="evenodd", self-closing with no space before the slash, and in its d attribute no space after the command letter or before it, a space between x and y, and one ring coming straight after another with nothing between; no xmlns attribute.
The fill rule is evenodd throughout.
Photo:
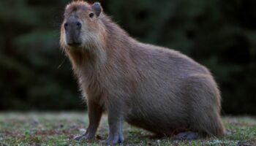
<svg viewBox="0 0 256 146"><path fill-rule="evenodd" d="M84 106L71 66L59 48L64 4L67 1L0 1L0 109Z"/></svg>

